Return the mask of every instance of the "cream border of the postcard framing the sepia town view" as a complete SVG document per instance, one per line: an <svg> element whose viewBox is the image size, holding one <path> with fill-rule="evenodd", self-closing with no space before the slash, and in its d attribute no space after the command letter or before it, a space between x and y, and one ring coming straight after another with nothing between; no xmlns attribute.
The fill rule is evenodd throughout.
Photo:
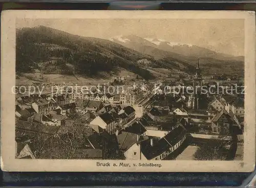
<svg viewBox="0 0 256 188"><path fill-rule="evenodd" d="M154 16L152 16L154 15ZM245 133L243 161L15 159L15 29L16 18L92 19L244 19L245 20ZM7 10L1 17L1 168L4 171L68 172L251 172L255 165L255 14L252 11L77 11ZM97 167L109 163L110 167ZM129 163L131 167L119 167ZM162 167L138 167L139 163ZM117 164L114 167L113 164ZM133 164L137 164L134 167Z"/></svg>

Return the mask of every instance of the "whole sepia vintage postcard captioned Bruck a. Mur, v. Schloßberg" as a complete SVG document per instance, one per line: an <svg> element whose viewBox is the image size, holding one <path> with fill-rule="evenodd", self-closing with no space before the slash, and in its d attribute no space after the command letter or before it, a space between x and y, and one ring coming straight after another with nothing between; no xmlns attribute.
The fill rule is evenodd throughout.
<svg viewBox="0 0 256 188"><path fill-rule="evenodd" d="M12 10L1 29L2 170L254 170L254 12Z"/></svg>

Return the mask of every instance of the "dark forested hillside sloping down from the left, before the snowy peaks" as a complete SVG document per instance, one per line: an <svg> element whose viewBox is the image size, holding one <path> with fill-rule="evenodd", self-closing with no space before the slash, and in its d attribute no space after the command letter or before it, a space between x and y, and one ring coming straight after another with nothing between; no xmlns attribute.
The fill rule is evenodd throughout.
<svg viewBox="0 0 256 188"><path fill-rule="evenodd" d="M96 75L116 67L130 70L143 78L152 78L150 72L136 62L151 56L121 46L114 42L71 35L38 26L23 28L16 33L16 71Z"/></svg>

